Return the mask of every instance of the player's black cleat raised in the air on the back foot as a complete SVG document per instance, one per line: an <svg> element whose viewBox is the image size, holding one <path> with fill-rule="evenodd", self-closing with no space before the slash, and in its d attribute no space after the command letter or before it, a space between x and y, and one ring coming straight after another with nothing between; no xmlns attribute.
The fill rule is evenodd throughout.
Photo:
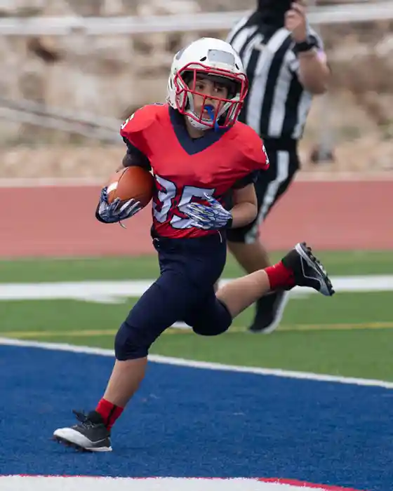
<svg viewBox="0 0 393 491"><path fill-rule="evenodd" d="M311 248L305 242L298 243L282 259L284 266L293 271L295 284L308 286L326 297L334 295L331 284L324 266L314 257Z"/></svg>

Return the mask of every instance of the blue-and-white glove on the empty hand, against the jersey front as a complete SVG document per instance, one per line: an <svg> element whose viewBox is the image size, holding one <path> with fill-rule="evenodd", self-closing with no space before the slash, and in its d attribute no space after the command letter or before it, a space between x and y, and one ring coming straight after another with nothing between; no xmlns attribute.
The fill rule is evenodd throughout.
<svg viewBox="0 0 393 491"><path fill-rule="evenodd" d="M210 206L202 205L201 203L188 203L182 207L182 213L185 213L189 218L192 218L192 227L199 229L225 229L232 224L232 213L225 210L221 203L213 196L205 194L205 199L210 203Z"/></svg>

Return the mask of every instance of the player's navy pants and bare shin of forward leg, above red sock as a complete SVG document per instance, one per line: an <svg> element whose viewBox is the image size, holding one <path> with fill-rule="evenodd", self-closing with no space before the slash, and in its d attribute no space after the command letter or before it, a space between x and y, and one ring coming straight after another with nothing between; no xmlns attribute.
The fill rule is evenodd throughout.
<svg viewBox="0 0 393 491"><path fill-rule="evenodd" d="M115 339L116 365L104 398L121 407L144 375L146 359L138 363L138 370L133 362L146 358L161 332L201 304L225 265L226 248L219 234L201 241L160 239L156 247L161 276L131 310Z"/></svg>

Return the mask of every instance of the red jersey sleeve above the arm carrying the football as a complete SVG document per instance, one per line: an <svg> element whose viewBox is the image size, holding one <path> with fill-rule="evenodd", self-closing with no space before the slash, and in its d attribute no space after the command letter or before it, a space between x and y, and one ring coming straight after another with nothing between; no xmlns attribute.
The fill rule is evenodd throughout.
<svg viewBox="0 0 393 491"><path fill-rule="evenodd" d="M147 105L135 111L124 121L120 135L145 156L149 156L149 146L145 138L147 128L156 121L156 105Z"/></svg>

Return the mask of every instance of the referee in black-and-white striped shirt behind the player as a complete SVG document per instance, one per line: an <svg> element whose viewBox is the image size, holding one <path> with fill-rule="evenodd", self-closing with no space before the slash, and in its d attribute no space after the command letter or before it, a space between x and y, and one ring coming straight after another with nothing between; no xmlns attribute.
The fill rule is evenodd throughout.
<svg viewBox="0 0 393 491"><path fill-rule="evenodd" d="M330 72L321 38L309 27L301 0L258 0L256 11L234 26L227 41L243 60L250 83L239 121L262 137L270 162L255 182L258 218L227 231L229 249L252 273L270 264L258 228L293 181L312 96L326 91ZM287 300L288 292L258 300L249 329L272 332Z"/></svg>

